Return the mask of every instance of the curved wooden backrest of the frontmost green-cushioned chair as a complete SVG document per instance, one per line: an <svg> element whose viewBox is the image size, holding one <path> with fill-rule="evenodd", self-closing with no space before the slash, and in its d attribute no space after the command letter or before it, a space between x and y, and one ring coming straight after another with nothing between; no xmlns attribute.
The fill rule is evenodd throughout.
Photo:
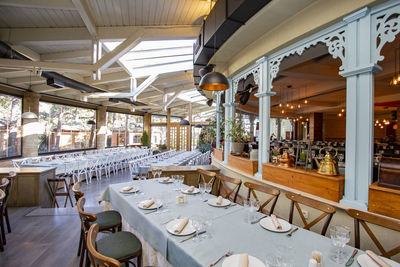
<svg viewBox="0 0 400 267"><path fill-rule="evenodd" d="M90 261L92 262L93 266L106 266L106 267L119 267L121 266L120 262L116 259L109 258L100 254L96 250L96 238L97 234L99 233L99 225L97 223L93 224L88 231L87 236L87 249L89 251Z"/></svg>

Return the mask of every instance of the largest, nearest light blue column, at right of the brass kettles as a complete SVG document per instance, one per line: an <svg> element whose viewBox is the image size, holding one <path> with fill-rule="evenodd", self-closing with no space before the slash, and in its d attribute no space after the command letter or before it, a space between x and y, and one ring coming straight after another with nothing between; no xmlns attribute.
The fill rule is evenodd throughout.
<svg viewBox="0 0 400 267"><path fill-rule="evenodd" d="M346 171L345 194L341 203L358 209L368 208L368 186L372 181L374 73L372 64L369 9L344 18L346 26Z"/></svg>

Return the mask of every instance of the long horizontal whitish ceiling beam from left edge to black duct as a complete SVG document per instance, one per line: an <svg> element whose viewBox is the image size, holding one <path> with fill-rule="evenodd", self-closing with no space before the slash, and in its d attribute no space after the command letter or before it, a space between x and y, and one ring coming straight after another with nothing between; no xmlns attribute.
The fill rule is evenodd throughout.
<svg viewBox="0 0 400 267"><path fill-rule="evenodd" d="M126 39L132 32L144 31L142 39L163 38L195 38L199 34L199 26L117 26L97 27L97 38ZM91 41L93 37L86 27L71 28L2 28L0 39L13 44L24 42L63 43L65 41Z"/></svg>

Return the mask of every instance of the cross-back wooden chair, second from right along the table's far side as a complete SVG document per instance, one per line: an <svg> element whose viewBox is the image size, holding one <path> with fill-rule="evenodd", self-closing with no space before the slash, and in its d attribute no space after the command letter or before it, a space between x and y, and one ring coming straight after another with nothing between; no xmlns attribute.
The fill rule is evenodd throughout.
<svg viewBox="0 0 400 267"><path fill-rule="evenodd" d="M294 193L286 193L286 197L290 199L292 202L290 203L290 214L289 214L289 222L293 222L293 211L294 211L294 206L296 206L297 211L299 212L300 218L303 221L303 228L310 230L312 226L317 224L319 221L321 221L323 218L327 217L324 223L324 226L322 227L321 235L325 235L326 231L328 230L329 223L332 220L333 214L336 212L336 209L328 205L326 203L320 202L318 200L314 200L308 197L300 196L298 194ZM300 208L300 204L306 205L308 207L317 209L322 211L322 214L312 220L311 222L307 222L306 218L304 218L303 211Z"/></svg>

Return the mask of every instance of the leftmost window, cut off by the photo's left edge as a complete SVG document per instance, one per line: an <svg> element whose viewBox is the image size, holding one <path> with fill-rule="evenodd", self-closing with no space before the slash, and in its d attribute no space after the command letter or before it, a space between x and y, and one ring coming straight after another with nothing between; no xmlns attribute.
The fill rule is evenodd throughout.
<svg viewBox="0 0 400 267"><path fill-rule="evenodd" d="M22 99L0 94L0 158L21 155Z"/></svg>

